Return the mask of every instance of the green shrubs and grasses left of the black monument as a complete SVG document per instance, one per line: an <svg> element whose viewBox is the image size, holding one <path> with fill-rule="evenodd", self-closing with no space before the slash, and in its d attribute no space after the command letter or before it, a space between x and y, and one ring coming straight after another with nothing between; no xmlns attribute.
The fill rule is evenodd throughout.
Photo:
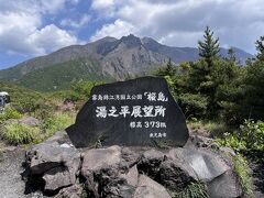
<svg viewBox="0 0 264 198"><path fill-rule="evenodd" d="M1 91L11 96L11 105L0 114L0 142L7 144L34 144L74 123L77 110L90 97L90 91L101 81L75 81L68 90L36 92L13 84L0 82ZM24 116L38 119L41 124L29 127L19 122Z"/></svg>

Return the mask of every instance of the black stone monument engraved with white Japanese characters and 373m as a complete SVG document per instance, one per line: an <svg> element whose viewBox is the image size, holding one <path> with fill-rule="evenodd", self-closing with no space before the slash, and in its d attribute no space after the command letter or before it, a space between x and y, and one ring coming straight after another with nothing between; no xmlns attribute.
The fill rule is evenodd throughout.
<svg viewBox="0 0 264 198"><path fill-rule="evenodd" d="M184 146L188 140L185 117L164 78L142 77L96 86L66 129L76 147L102 145Z"/></svg>

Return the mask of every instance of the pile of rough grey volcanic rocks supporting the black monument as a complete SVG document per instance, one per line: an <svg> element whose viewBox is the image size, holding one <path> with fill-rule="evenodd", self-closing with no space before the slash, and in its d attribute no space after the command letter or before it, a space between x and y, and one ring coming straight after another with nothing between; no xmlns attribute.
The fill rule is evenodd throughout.
<svg viewBox="0 0 264 198"><path fill-rule="evenodd" d="M190 136L185 147L75 148L58 132L26 152L28 193L56 198L170 198L191 184L205 184L212 198L242 197L230 160L234 153ZM37 185L35 185L37 184Z"/></svg>

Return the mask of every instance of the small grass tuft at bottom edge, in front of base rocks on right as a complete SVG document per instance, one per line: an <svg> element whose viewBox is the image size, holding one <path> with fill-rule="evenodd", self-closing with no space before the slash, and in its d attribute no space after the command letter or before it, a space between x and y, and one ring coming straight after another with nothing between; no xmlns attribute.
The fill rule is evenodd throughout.
<svg viewBox="0 0 264 198"><path fill-rule="evenodd" d="M173 198L209 198L206 184L190 183L182 191L175 193Z"/></svg>

